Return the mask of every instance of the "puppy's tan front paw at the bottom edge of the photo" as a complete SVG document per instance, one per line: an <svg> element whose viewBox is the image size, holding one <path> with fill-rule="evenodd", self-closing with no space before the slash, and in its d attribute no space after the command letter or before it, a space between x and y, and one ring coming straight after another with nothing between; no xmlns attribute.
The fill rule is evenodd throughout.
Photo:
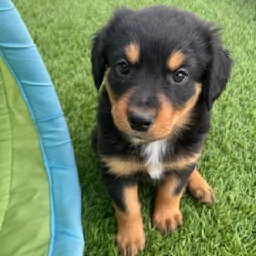
<svg viewBox="0 0 256 256"><path fill-rule="evenodd" d="M143 225L127 223L118 230L116 235L117 246L122 256L135 256L145 247Z"/></svg>

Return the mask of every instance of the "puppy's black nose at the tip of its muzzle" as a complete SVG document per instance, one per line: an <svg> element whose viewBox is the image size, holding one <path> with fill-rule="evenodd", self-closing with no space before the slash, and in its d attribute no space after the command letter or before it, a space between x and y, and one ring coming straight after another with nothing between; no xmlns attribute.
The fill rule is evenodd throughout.
<svg viewBox="0 0 256 256"><path fill-rule="evenodd" d="M154 116L149 113L138 113L131 111L128 113L128 121L131 129L145 132L154 124Z"/></svg>

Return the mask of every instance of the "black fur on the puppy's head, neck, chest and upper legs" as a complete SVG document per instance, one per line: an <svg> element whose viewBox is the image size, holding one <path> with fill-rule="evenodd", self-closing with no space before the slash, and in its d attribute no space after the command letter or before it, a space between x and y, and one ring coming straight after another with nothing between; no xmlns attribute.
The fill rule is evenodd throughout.
<svg viewBox="0 0 256 256"><path fill-rule="evenodd" d="M140 61L131 65L129 75L122 76L116 69L116 63L125 59L124 46L130 42L138 42L141 46ZM185 53L183 68L187 70L189 79L182 85L173 82L170 85L173 74L167 70L167 57L178 50ZM182 108L195 93L192 85L201 83L203 89L191 114L193 123L169 140L163 159L201 151L210 129L210 109L225 89L231 70L229 52L223 49L218 30L212 24L171 7L156 6L141 11L117 10L108 25L95 36L91 60L97 90L103 82L106 68L111 67L108 75L111 90L119 98L134 87L136 93L129 104L137 107L158 109L160 103L157 95L162 93L173 105ZM142 146L131 143L115 126L105 89L99 98L93 142L100 156L134 156L143 159L139 155ZM195 164L183 171L170 170L166 173L176 175L180 181L177 193L186 185ZM102 167L103 181L121 210L125 210L122 201L124 186L137 183L145 176L150 179L143 172L129 177L115 177L108 173L106 167Z"/></svg>

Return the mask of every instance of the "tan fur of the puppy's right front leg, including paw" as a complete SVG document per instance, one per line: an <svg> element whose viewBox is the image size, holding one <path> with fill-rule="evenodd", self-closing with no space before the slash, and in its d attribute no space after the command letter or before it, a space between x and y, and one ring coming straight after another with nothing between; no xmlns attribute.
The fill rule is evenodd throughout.
<svg viewBox="0 0 256 256"><path fill-rule="evenodd" d="M177 186L177 178L174 175L169 175L157 191L152 222L153 226L163 234L172 233L182 225L180 199L183 190L179 194L175 194Z"/></svg>

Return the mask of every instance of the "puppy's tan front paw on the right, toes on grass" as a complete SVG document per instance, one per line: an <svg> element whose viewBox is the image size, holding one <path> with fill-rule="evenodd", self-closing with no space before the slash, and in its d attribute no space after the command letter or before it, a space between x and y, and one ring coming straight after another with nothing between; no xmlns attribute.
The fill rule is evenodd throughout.
<svg viewBox="0 0 256 256"><path fill-rule="evenodd" d="M153 226L163 235L171 234L182 225L182 214L179 209L157 207L152 218Z"/></svg>

